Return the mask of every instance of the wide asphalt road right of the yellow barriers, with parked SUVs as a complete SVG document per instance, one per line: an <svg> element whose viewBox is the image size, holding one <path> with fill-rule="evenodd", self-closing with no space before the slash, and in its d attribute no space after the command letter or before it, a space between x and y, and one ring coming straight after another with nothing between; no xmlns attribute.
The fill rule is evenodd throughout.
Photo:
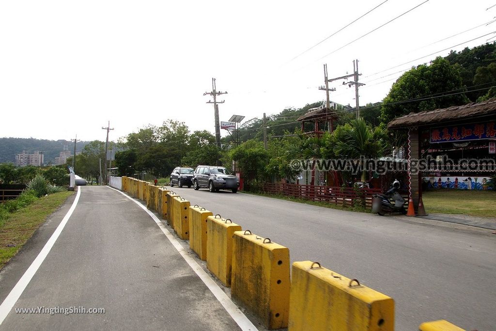
<svg viewBox="0 0 496 331"><path fill-rule="evenodd" d="M396 330L418 330L439 319L466 330L496 330L496 235L490 230L240 192L172 190L191 205L285 245L292 262L318 261L391 296Z"/></svg>

